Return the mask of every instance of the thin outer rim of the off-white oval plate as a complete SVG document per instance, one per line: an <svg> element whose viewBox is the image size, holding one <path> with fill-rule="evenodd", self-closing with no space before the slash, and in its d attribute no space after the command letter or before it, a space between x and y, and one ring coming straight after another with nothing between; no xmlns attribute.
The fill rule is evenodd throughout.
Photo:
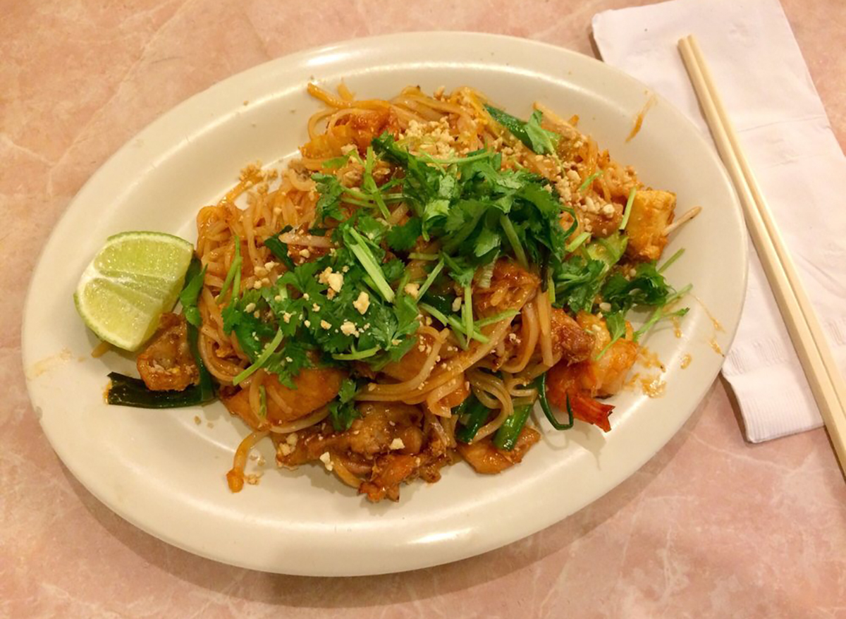
<svg viewBox="0 0 846 619"><path fill-rule="evenodd" d="M290 69L295 69L296 65L302 63L306 59L309 58L316 58L320 57L321 55L326 55L332 52L359 52L363 53L365 56L368 53L372 52L373 47L379 48L386 48L390 47L391 44L395 44L398 41L403 41L403 43L408 43L409 38L415 38L420 40L425 40L427 38L431 38L432 36L437 37L445 37L448 39L453 39L455 41L467 39L474 39L476 41L484 41L488 45L495 45L497 43L506 43L508 45L515 45L515 46L522 46L526 47L527 49L534 49L534 50L547 50L549 52L561 55L563 57L569 58L577 58L579 61L587 61L588 63L593 63L595 67L602 68L600 70L605 72L610 72L614 75L615 79L623 80L628 82L629 85L636 86L640 89L648 90L651 94L656 96L656 99L662 104L663 107L666 107L674 116L676 116L682 123L687 126L689 134L691 136L695 136L695 140L700 142L700 145L704 147L704 151L709 153L711 158L711 163L715 165L720 173L720 176L723 179L724 184L728 187L729 192L731 194L732 199L732 209L734 218L736 222L739 222L739 226L741 227L741 236L745 238L745 227L744 227L744 219L740 211L739 201L734 191L733 184L731 184L730 179L728 177L728 173L726 172L725 168L722 166L722 162L719 160L717 153L714 151L711 144L709 144L706 137L700 133L700 130L695 127L695 124L687 118L683 112L678 110L678 107L675 107L672 103L667 101L664 97L660 94L656 93L655 90L651 89L651 87L643 84L640 80L633 78L629 74L624 73L621 69L615 68L611 65L603 63L601 60L597 58L592 58L591 56L587 56L580 52L575 52L565 47L558 47L551 43L543 42L543 41L534 41L530 39L525 39L516 36L505 36L505 35L496 35L496 34L487 34L487 33L480 33L480 32L464 32L464 31L417 31L417 32L409 32L409 33L396 33L396 34L389 34L389 35L382 35L382 36L368 36L368 37L360 37L349 39L345 41L338 41L333 42L327 45L323 45L320 47L312 47L310 49L301 50L298 52L294 52L282 57L272 58L271 60L266 61L265 63L261 63L255 65L254 67L247 68L244 71L241 71L237 74L228 75L226 78L221 79L220 81L216 82L213 85L208 86L207 88L200 90L199 92L195 93L194 95L188 97L184 101L180 101L177 105L169 108L166 112L162 112L162 114L158 115L157 118L154 118L150 123L147 123L143 129L134 135L132 135L129 140L127 140L123 145L121 145L117 151L113 153L113 155L109 156L105 162L102 163L100 167L97 168L96 172L91 175L80 187L80 190L77 194L74 195L74 198L69 201L69 204L63 211L62 215L58 218L57 222L53 225L52 231L47 238L45 244L42 245L41 251L38 255L38 259L36 260L36 266L32 271L32 275L30 277L30 282L28 284L26 294L25 294L25 303L24 303L24 312L22 315L22 330L21 330L21 350L22 350L22 357L24 362L24 368L29 368L33 363L36 362L36 359L32 359L30 355L30 342L35 335L33 334L33 325L30 323L30 304L33 304L35 301L33 299L34 289L36 288L36 279L39 275L39 272L43 269L47 268L44 265L43 259L44 256L47 254L48 248L51 247L53 243L56 242L56 239L61 238L64 232L63 228L69 225L69 221L71 219L72 211L74 211L74 206L77 205L78 202L83 201L87 197L87 194L91 192L91 188L96 188L97 184L99 184L102 178L106 177L108 173L111 172L112 168L118 167L122 160L127 156L127 154L132 150L132 145L135 140L144 140L149 135L155 134L157 129L168 122L169 118L173 118L179 115L179 113L183 112L185 109L190 109L192 107L197 107L198 101L203 101L207 97L215 96L218 93L222 93L228 85L228 82L235 78L239 77L246 77L252 74L262 74L268 70L270 67L275 66L288 66ZM463 41L461 41L463 42ZM440 58L439 58L440 62ZM400 61L400 64L409 64L410 61ZM502 65L501 62L492 63L492 65ZM331 66L331 65L330 65ZM327 70L327 73L331 71L331 68ZM319 81L319 80L318 80ZM281 90L285 90L285 85L280 85L280 87L275 90L274 92L278 94ZM205 127L207 123L198 124L197 128ZM80 198L81 196L81 198ZM740 282L741 290L745 290L747 277L748 277L748 267L749 267L749 256L750 250L747 243L743 243L742 247L739 248L739 257L742 260L742 266L740 268L740 273L742 277L742 281ZM739 325L739 316L743 309L743 302L744 302L744 295L741 294L741 299L739 303L739 309L737 311L737 316L733 318L733 321L730 326L726 329L726 339L727 339L727 349L730 346L731 342L733 342L733 338L736 335L737 328ZM663 446L666 446L667 442L670 441L674 435L678 433L678 430L684 423L688 421L690 416L694 413L695 409L700 405L702 399L705 397L706 392L711 388L714 380L716 379L719 373L719 366L717 365L717 369L712 372L711 378L707 383L703 381L703 387L700 389L700 392L695 394L695 397L689 397L689 411L686 414L680 415L678 418L678 424L672 426L672 431L667 431L666 439L661 441L661 445L657 447L656 451L654 452L645 452L645 456L641 457L637 460L636 466L630 467L629 473L623 474L618 477L618 479L614 479L611 483L606 484L600 491L596 494L591 496L591 498L584 503L582 509L591 505L594 501L598 500L602 496L604 496L609 490L612 490L614 487L622 483L625 479L628 479L632 474L634 474L637 470L639 470L651 457L654 457L657 452L660 452ZM27 386L27 392L30 397L30 403L34 409L37 409L35 401L36 397L34 394L35 381L30 378L29 372L25 372L25 381ZM377 573L388 573L388 572L402 572L410 569L418 569L423 567L431 567L433 565L438 565L441 563L447 563L452 561L459 561L464 558L468 558L470 556L476 556L482 554L487 551L492 551L496 548L502 547L503 545L508 545L513 543L516 540L523 539L530 534L535 534L536 532L546 529L547 527L551 526L553 523L557 523L563 518L567 518L569 514L565 514L564 516L559 515L546 515L545 517L538 518L536 520L536 525L521 529L517 534L512 535L503 535L495 540L486 540L486 543L480 543L479 540L476 540L476 544L472 550L464 550L459 552L452 552L450 556L444 558L443 560L437 559L434 561L410 561L405 567L389 567L387 569L364 569L364 570L341 570L340 572L329 573L325 571L321 572L313 572L308 569L305 571L298 571L296 569L290 569L290 566L280 567L280 566L257 566L255 563L250 563L249 561L233 561L233 559L228 557L220 556L219 552L207 550L207 549L200 549L194 546L185 545L180 542L180 540L173 539L173 537L162 534L161 531L151 527L148 523L140 522L137 518L133 518L131 513L125 512L123 509L120 509L117 505L115 505L114 501L107 500L107 497L102 496L102 492L98 491L94 486L93 482L89 483L91 480L83 479L80 477L80 474L77 473L76 468L69 463L69 457L66 450L63 449L61 446L61 441L57 441L56 437L52 435L51 430L42 423L41 414L38 413L36 410L36 415L39 418L39 424L41 425L44 434L47 436L47 440L49 441L53 451L58 455L58 457L62 460L64 466L66 466L71 474L74 474L74 478L80 481L80 484L85 487L86 490L91 492L92 495L96 496L98 501L101 501L106 507L108 507L112 512L116 513L120 518L124 518L124 520L132 523L134 526L146 531L149 534L157 537L160 540L164 540L171 545L175 545L179 548L182 548L186 551L191 552L192 554L204 556L206 558L212 559L214 561L221 561L224 563L228 563L230 565L235 565L238 567L247 567L250 569L267 571L267 572L282 572L288 574L304 574L304 575L367 575L367 574L377 574ZM670 427L670 426L667 426ZM70 458L72 460L72 458ZM578 511L578 510L576 510ZM573 512L571 512L573 513Z"/></svg>

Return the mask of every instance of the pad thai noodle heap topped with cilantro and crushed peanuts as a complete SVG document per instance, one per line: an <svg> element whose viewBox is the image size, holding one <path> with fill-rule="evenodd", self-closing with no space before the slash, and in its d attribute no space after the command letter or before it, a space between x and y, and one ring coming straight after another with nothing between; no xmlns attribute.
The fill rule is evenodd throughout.
<svg viewBox="0 0 846 619"><path fill-rule="evenodd" d="M675 194L541 103L521 119L469 87L308 90L323 107L299 157L245 168L199 211L182 313L110 401L219 397L251 430L231 490L272 440L279 466L316 463L371 501L460 460L499 473L542 427L611 430L603 398L686 311L675 256L659 265Z"/></svg>

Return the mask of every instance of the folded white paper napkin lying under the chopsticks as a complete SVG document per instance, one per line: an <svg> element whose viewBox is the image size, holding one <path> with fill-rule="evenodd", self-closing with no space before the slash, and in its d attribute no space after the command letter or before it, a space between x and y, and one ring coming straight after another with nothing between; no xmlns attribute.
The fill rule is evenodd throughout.
<svg viewBox="0 0 846 619"><path fill-rule="evenodd" d="M650 85L710 137L677 47L683 36L696 36L846 372L846 157L781 5L673 0L597 14L593 33L606 63ZM738 397L747 438L760 442L822 421L761 263L754 251L752 256L743 316L722 374Z"/></svg>

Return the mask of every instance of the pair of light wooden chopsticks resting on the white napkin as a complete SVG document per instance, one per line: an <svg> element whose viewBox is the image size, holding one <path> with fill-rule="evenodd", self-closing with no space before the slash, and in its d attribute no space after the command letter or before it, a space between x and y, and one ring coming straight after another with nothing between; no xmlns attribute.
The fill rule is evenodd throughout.
<svg viewBox="0 0 846 619"><path fill-rule="evenodd" d="M802 288L755 175L740 148L699 44L693 36L686 36L678 41L678 49L705 112L717 151L737 189L746 227L799 355L810 391L820 408L840 466L846 470L846 381L843 381L820 320Z"/></svg>

